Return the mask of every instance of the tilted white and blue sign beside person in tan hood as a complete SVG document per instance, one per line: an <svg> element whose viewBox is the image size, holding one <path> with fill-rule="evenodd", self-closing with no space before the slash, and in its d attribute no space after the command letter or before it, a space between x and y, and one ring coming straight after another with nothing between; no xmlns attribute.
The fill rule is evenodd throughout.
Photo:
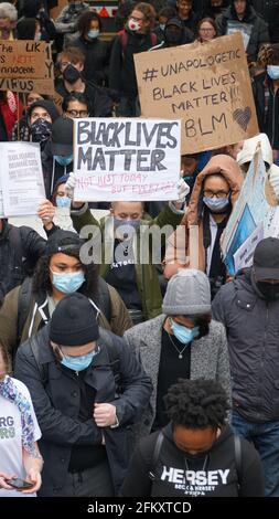
<svg viewBox="0 0 279 519"><path fill-rule="evenodd" d="M257 243L279 234L279 208L266 198L268 177L260 149L248 169L239 198L221 239L224 262L230 275L249 266ZM278 222L275 225L275 222Z"/></svg>

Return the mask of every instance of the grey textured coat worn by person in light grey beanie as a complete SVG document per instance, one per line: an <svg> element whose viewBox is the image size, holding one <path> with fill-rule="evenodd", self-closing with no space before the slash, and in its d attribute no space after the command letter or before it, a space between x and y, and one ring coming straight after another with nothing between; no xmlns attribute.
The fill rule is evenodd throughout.
<svg viewBox="0 0 279 519"><path fill-rule="evenodd" d="M153 384L149 406L142 413L140 422L137 423L136 435L139 438L150 433L155 417L158 372L165 318L165 315L158 316L135 326L124 335L130 348L140 359L146 373L151 377ZM202 339L194 340L191 348L191 380L200 378L216 380L226 390L230 400L229 360L223 325L213 320L210 325L210 333Z"/></svg>

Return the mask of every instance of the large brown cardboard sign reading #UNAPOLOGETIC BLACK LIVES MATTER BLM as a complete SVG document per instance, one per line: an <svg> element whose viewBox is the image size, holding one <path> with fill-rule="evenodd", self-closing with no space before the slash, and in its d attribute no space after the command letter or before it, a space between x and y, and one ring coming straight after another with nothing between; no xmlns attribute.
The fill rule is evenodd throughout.
<svg viewBox="0 0 279 519"><path fill-rule="evenodd" d="M182 118L182 153L258 133L240 33L135 54L143 117Z"/></svg>

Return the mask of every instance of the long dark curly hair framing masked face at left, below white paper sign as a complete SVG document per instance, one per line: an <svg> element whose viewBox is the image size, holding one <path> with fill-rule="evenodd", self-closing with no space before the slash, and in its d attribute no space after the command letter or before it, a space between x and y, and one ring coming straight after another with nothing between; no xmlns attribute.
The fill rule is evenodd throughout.
<svg viewBox="0 0 279 519"><path fill-rule="evenodd" d="M81 261L78 248L69 248L63 254ZM50 261L53 255L54 254L45 254L39 258L32 283L33 294L37 294L42 290L46 292L49 295L52 294L53 285L50 277ZM85 283L78 292L87 297L93 297L93 295L98 292L98 267L93 263L89 265L83 264L83 272Z"/></svg>

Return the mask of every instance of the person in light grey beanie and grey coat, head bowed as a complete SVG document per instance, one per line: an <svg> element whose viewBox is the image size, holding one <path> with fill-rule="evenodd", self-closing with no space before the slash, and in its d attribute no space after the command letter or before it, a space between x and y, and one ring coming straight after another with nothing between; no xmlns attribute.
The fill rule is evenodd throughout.
<svg viewBox="0 0 279 519"><path fill-rule="evenodd" d="M206 275L190 268L173 276L162 313L125 332L153 384L149 407L137 423L139 437L167 425L163 398L179 377L217 380L230 399L227 341L224 328L211 317Z"/></svg>

